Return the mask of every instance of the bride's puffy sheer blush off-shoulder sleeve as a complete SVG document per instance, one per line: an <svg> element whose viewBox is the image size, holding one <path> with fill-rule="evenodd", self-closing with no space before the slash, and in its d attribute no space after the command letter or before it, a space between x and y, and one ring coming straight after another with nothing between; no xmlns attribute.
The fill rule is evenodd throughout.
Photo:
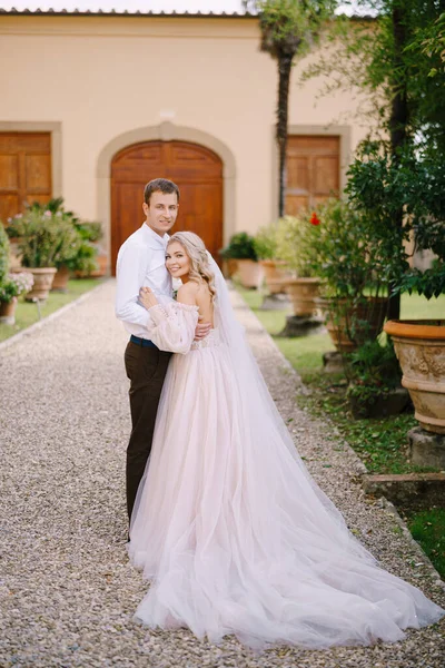
<svg viewBox="0 0 445 668"><path fill-rule="evenodd" d="M171 353L189 352L195 338L198 323L198 306L171 303L166 306L157 304L149 308L151 323L148 331L151 341L160 351Z"/></svg>

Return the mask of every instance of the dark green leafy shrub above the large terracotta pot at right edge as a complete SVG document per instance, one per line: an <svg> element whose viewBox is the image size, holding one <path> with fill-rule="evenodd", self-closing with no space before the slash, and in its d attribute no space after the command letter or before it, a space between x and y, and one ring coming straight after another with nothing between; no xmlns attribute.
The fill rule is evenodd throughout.
<svg viewBox="0 0 445 668"><path fill-rule="evenodd" d="M378 143L366 144L349 168L350 203L364 212L366 226L382 244L385 271L396 294L417 292L426 298L445 292L445 165L437 156L418 156L408 145L394 160ZM394 225L403 210L404 224ZM432 250L436 259L421 272L408 264L414 250Z"/></svg>

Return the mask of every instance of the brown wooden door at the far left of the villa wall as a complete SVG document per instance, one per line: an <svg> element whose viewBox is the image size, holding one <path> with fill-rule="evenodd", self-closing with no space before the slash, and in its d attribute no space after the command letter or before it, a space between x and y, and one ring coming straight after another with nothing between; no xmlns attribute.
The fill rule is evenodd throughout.
<svg viewBox="0 0 445 668"><path fill-rule="evenodd" d="M50 132L0 132L0 219L51 198Z"/></svg>

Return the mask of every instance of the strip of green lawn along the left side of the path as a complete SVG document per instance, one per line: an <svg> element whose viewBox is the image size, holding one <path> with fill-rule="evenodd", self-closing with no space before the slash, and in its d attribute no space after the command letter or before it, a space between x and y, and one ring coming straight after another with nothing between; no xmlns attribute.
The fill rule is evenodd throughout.
<svg viewBox="0 0 445 668"><path fill-rule="evenodd" d="M61 306L69 304L73 299L77 299L83 293L92 289L99 283L101 278L77 278L68 282L67 293L50 293L48 299L40 303L41 317L50 315ZM19 298L19 303L16 308L16 324L14 325L2 325L0 324L0 341L9 338L13 334L26 330L30 325L33 325L39 321L39 310L37 304L32 302L26 302L23 297Z"/></svg>

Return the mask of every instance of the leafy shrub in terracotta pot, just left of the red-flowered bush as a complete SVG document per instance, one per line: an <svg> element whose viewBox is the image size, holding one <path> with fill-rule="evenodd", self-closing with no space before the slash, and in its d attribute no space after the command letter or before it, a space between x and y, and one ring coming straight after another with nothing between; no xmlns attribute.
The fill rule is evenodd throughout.
<svg viewBox="0 0 445 668"><path fill-rule="evenodd" d="M313 239L317 236L318 216L301 212L298 217L285 216L279 220L278 254L293 275L285 281L294 315L310 318L317 310L320 279L313 267Z"/></svg>

